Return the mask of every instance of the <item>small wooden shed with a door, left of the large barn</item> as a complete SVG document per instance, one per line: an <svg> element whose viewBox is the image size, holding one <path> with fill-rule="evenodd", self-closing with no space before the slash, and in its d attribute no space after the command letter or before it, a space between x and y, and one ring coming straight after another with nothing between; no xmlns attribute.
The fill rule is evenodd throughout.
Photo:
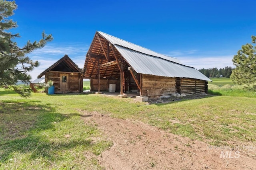
<svg viewBox="0 0 256 170"><path fill-rule="evenodd" d="M56 63L44 70L38 78L45 76L45 82L54 82L54 93L79 93L83 90L82 70L64 55ZM47 92L47 89L46 89Z"/></svg>

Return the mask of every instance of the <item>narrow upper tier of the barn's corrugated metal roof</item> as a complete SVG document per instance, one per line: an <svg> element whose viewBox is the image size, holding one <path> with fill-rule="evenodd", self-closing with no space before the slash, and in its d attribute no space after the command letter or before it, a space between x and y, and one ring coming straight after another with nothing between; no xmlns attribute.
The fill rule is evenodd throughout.
<svg viewBox="0 0 256 170"><path fill-rule="evenodd" d="M180 60L177 59L177 58L169 57L169 56L166 56L166 55L162 55L162 54L156 53L156 52L154 52L154 51L152 51L150 49L146 49L146 48L141 47L139 45L130 43L128 41L124 41L124 40L122 40L120 38L114 37L112 35L108 35L106 33L100 32L100 31L98 31L98 33L102 37L106 38L112 44L120 45L122 47L126 47L126 48L132 49L134 51L138 51L140 53L144 53L144 54L147 54L147 55L152 55L152 56L160 57L162 59L166 59L166 60L169 60L169 61L181 64Z"/></svg>

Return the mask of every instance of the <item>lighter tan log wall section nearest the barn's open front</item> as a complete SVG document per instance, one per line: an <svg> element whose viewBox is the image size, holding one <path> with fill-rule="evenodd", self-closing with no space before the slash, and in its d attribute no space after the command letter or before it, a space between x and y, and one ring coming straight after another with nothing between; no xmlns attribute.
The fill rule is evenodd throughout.
<svg viewBox="0 0 256 170"><path fill-rule="evenodd" d="M143 74L142 96L158 98L176 93L175 78Z"/></svg>

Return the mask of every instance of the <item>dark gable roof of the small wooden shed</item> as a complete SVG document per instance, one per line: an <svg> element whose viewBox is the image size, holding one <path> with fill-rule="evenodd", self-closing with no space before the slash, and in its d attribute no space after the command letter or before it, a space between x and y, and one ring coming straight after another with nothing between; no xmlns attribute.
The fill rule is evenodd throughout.
<svg viewBox="0 0 256 170"><path fill-rule="evenodd" d="M62 71L62 72L79 72L82 70L78 68L78 66L68 57L68 55L64 55L61 59L52 64L49 68L44 70L41 74L37 76L37 78L41 78L48 71Z"/></svg>

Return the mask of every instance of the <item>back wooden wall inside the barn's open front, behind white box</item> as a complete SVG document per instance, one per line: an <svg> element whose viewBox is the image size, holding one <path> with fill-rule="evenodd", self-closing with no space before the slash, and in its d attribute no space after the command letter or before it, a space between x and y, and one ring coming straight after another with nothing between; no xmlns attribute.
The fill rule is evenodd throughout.
<svg viewBox="0 0 256 170"><path fill-rule="evenodd" d="M99 88L98 78L91 78L91 91L97 91ZM116 92L120 92L120 80L118 79L100 79L100 91L109 92L109 84L116 84Z"/></svg>

